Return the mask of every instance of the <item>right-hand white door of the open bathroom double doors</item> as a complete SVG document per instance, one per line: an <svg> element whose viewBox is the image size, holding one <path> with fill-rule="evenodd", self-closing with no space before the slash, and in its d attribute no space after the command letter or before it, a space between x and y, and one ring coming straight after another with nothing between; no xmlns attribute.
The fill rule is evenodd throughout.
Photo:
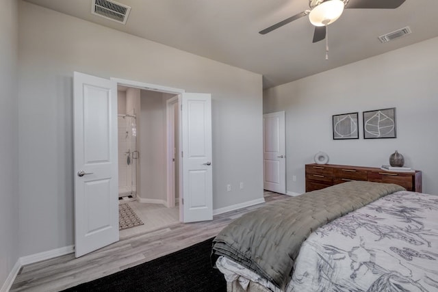
<svg viewBox="0 0 438 292"><path fill-rule="evenodd" d="M181 105L183 222L212 220L211 95L183 93Z"/></svg>

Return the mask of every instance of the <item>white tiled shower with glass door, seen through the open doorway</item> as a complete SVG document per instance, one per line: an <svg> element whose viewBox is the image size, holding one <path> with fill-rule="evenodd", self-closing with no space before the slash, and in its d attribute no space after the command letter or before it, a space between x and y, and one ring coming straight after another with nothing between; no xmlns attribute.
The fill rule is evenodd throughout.
<svg viewBox="0 0 438 292"><path fill-rule="evenodd" d="M136 196L136 115L118 114L118 196Z"/></svg>

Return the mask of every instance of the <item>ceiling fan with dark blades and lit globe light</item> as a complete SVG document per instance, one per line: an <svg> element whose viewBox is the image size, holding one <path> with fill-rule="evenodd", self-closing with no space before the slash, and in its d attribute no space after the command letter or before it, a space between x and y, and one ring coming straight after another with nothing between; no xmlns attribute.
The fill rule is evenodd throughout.
<svg viewBox="0 0 438 292"><path fill-rule="evenodd" d="M327 25L334 23L344 12L344 8L395 9L402 5L404 1L406 0L309 0L310 10L305 10L286 18L284 21L271 25L259 31L259 34L268 34L268 32L274 29L309 15L309 21L312 25L315 25L313 42L319 42L326 38Z"/></svg>

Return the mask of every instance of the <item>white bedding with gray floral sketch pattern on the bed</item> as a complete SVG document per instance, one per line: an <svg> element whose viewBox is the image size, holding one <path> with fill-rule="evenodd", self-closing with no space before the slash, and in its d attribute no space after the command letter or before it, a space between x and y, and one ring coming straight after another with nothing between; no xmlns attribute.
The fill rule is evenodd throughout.
<svg viewBox="0 0 438 292"><path fill-rule="evenodd" d="M279 291L235 263L220 269ZM318 228L285 291L438 291L438 196L398 191Z"/></svg>

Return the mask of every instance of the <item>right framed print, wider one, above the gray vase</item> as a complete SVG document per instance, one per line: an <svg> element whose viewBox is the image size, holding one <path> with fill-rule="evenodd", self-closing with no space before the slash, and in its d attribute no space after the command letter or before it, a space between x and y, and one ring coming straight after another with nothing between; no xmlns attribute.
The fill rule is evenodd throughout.
<svg viewBox="0 0 438 292"><path fill-rule="evenodd" d="M396 108L363 111L363 139L397 137Z"/></svg>

